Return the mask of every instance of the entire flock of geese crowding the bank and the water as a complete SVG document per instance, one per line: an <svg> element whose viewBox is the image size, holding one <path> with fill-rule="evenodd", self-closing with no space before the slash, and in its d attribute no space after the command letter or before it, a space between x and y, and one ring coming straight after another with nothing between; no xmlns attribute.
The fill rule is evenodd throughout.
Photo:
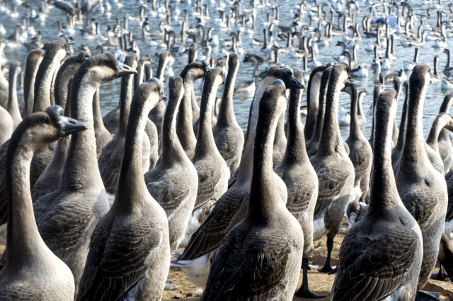
<svg viewBox="0 0 453 301"><path fill-rule="evenodd" d="M0 11L17 14L18 1L1 2ZM288 26L280 23L277 4L252 1L243 8L237 1L229 13L221 11L219 26L237 23L243 30L231 32L231 49L217 59L210 49L219 38L215 28L205 32L209 12L202 1L195 3L197 27L190 28L185 11L180 39L170 28L176 1L140 5L142 37L128 30L130 18L102 35L89 13L107 13L108 1L42 1L38 13L28 2L18 4L26 11L15 33L5 37L0 26L0 239L6 244L0 300L161 300L171 287L170 266L204 290L202 301L326 297L310 290L308 279L313 241L323 235L328 256L319 271L336 273L331 300L437 300L423 288L430 277L453 281L453 93L445 95L425 139L423 104L428 85L441 82L439 57L430 69L415 48L401 70L381 71L396 59L396 40L423 47L430 37L445 48L453 24L444 18L452 13L442 11L440 0L427 4L427 15L437 10L437 27L415 28L408 2L367 4L361 30L355 1L302 1ZM30 20L46 18L50 6L67 13L59 37L42 43L36 32L25 42L24 33L34 30ZM241 42L246 23L256 32L254 11L264 8L272 8L265 38L251 41L270 59L245 52ZM159 14L166 22L152 32L148 25ZM82 45L71 56L80 23L85 39L101 40L92 49L101 54ZM318 47L333 35L343 35L337 44L343 52L322 64ZM369 139L360 128L367 90L351 80L368 76L367 64L357 61L362 35L376 39L367 45L375 73ZM166 47L155 72L135 39ZM285 39L287 46L279 47ZM23 71L19 61L6 64L4 48L15 43L30 49ZM197 45L207 51L199 55ZM442 88L449 88L453 67L444 52ZM304 70L280 64L280 54L303 59ZM174 61L187 57L174 75ZM257 86L254 80L236 85L247 63ZM260 72L263 64L268 69ZM102 117L100 87L115 78L120 101ZM198 80L201 95L195 95ZM248 90L254 94L244 136L233 100ZM345 141L342 92L350 98ZM344 216L349 229L333 267ZM437 261L440 271L432 273Z"/></svg>

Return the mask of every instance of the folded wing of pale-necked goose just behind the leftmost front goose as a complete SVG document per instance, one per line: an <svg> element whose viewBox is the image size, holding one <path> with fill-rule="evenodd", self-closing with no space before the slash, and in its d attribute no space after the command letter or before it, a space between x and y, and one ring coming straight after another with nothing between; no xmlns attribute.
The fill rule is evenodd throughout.
<svg viewBox="0 0 453 301"><path fill-rule="evenodd" d="M52 206L60 190L42 196L33 204L38 230L47 247L59 259L64 259L79 242L93 218L92 205L82 194L69 194L64 201Z"/></svg>

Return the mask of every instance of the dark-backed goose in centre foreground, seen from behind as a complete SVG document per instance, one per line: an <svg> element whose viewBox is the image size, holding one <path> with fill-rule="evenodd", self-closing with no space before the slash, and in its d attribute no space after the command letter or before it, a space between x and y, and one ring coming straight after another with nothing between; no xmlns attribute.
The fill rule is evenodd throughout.
<svg viewBox="0 0 453 301"><path fill-rule="evenodd" d="M218 300L219 296L232 300L293 298L304 233L285 208L272 176L273 136L285 103L285 85L281 81L267 88L260 100L247 212L222 240L202 301ZM257 256L263 259L257 260ZM275 261L281 264L275 265ZM256 285L260 290L253 289Z"/></svg>

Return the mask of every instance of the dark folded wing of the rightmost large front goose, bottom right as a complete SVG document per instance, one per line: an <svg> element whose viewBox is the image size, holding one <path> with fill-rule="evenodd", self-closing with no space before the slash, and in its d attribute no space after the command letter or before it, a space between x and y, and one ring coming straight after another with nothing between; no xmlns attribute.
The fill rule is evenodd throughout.
<svg viewBox="0 0 453 301"><path fill-rule="evenodd" d="M332 300L381 300L401 285L420 242L409 228L379 228L362 220L346 233Z"/></svg>

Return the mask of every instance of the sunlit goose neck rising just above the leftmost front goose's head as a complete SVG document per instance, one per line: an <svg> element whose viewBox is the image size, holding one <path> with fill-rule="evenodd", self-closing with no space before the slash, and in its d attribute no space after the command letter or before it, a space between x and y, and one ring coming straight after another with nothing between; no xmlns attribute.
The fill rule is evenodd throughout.
<svg viewBox="0 0 453 301"><path fill-rule="evenodd" d="M40 64L38 76L35 81L35 104L33 106L33 112L45 111L51 105L50 90L55 72L59 68L59 60L53 59L47 66L43 66L44 63L43 61ZM41 69L44 70L41 71Z"/></svg>

